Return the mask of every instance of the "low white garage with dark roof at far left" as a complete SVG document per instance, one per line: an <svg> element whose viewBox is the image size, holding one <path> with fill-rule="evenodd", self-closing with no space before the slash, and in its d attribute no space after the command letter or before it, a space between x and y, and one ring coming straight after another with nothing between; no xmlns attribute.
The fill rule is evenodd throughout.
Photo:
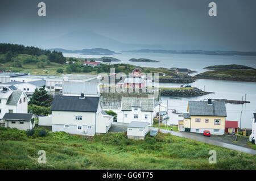
<svg viewBox="0 0 256 181"><path fill-rule="evenodd" d="M5 113L3 123L6 128L27 131L35 127L35 116L32 113Z"/></svg>

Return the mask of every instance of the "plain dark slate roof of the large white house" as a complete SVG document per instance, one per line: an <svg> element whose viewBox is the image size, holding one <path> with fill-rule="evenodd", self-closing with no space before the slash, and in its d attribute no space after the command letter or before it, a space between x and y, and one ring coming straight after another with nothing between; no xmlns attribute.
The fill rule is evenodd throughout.
<svg viewBox="0 0 256 181"><path fill-rule="evenodd" d="M78 111L78 112L97 112L99 97L85 96L61 96L56 95L53 99L52 111Z"/></svg>

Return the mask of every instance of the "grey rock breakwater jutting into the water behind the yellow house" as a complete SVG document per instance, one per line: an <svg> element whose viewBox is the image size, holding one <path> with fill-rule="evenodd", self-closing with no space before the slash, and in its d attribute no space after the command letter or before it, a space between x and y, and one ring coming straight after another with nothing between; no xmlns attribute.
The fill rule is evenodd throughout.
<svg viewBox="0 0 256 181"><path fill-rule="evenodd" d="M161 89L160 94L162 96L200 96L213 94L214 92L205 92L197 87L192 89Z"/></svg>

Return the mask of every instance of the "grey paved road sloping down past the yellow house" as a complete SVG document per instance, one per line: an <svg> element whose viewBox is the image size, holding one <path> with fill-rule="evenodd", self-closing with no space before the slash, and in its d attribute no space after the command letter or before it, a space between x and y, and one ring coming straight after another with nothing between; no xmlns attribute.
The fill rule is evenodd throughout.
<svg viewBox="0 0 256 181"><path fill-rule="evenodd" d="M151 129L157 129L157 128L151 128ZM203 137L200 135L192 135L192 134L185 133L185 132L168 131L165 129L160 129L160 132L171 133L174 136L189 138L191 140L201 141L201 142L205 142L205 143L211 144L211 145L222 146L224 148L242 151L244 153L256 154L256 150L254 150L254 149L245 148L243 146L237 146L237 145L233 145L233 144L227 144L227 143L221 142L221 141L211 140L209 137Z"/></svg>

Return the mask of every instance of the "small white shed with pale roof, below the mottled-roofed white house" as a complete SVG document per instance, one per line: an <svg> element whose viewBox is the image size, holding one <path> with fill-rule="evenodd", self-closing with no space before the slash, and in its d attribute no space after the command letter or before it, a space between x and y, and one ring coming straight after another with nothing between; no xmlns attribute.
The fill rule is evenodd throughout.
<svg viewBox="0 0 256 181"><path fill-rule="evenodd" d="M135 140L144 140L146 134L149 132L148 123L140 121L131 121L127 125L127 137Z"/></svg>

